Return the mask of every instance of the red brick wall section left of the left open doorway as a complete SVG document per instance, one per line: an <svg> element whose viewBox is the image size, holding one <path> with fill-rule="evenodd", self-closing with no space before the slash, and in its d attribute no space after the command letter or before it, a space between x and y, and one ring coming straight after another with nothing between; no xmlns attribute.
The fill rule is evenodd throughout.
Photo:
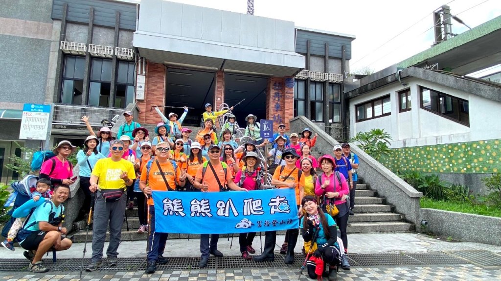
<svg viewBox="0 0 501 281"><path fill-rule="evenodd" d="M165 75L163 64L147 62L144 100L137 100L139 123L156 124L162 121L154 110L150 110L152 105L165 104ZM163 112L164 109L160 107L160 110Z"/></svg>

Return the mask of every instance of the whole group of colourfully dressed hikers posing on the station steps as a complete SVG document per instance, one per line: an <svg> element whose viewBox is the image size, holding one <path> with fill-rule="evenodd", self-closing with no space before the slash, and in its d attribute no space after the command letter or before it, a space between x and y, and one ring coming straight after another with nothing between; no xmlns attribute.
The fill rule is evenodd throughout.
<svg viewBox="0 0 501 281"><path fill-rule="evenodd" d="M263 189L265 185L294 188L296 193L301 219L299 225L286 232L280 249L280 253L285 254L285 263L294 262L294 249L301 229L305 241L302 252L309 259L310 277L316 278L327 271L335 275L333 271L338 265L349 270L346 228L348 216L354 214L359 165L349 143L335 145L333 155L316 159L311 150L318 134L310 128L305 128L301 135L293 132L289 136L285 133L286 125L279 124L278 132L266 139L261 137L257 116L249 114L245 117L242 136L237 135L238 125L231 113L232 107L212 111L211 104L207 103L205 109L203 128L193 136L191 129L182 126L187 107L179 119L176 113L165 116L155 107L162 122L155 127L154 136L133 120L131 111L123 113L125 123L119 127L116 137L106 126L95 132L89 117L82 117L90 133L84 148L77 153L80 188L85 194L82 216L93 214L92 256L86 270L94 271L103 265L108 227L107 262L110 266L117 264L125 209L135 205L140 221L137 232L148 233L146 273L155 272L158 264L169 261L164 256L168 233L155 231L152 191L248 191ZM215 125L220 115L224 115L226 121L220 124L218 135ZM267 155L263 153L268 151L263 149L265 145L271 145ZM43 163L40 179L32 192L34 199L44 197L48 203L38 206L24 226L20 227L21 222L16 224L17 231L13 226L12 233L2 242L6 248L14 250L13 239L18 235L20 245L27 250L25 256L31 261L30 271L48 271L41 260L43 254L51 248L64 250L71 246L71 240L63 235L66 228L61 221L52 221L50 216L55 213L57 217L64 211L61 203L68 198L69 185L75 180L68 156L76 150L68 140L58 143L54 149L56 156ZM206 169L207 166L210 169ZM271 176L270 182L265 170ZM276 231L267 231L263 252L252 255L256 253L253 248L256 234L239 234L242 258L273 261ZM200 235L200 268L207 266L209 255L223 256L217 249L218 238L217 233Z"/></svg>

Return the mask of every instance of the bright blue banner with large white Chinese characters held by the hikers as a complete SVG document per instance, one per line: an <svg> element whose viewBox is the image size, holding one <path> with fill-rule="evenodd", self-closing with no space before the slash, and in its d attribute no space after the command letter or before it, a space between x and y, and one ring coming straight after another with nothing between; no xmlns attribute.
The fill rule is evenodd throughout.
<svg viewBox="0 0 501 281"><path fill-rule="evenodd" d="M155 231L242 233L299 226L292 188L228 192L153 191Z"/></svg>

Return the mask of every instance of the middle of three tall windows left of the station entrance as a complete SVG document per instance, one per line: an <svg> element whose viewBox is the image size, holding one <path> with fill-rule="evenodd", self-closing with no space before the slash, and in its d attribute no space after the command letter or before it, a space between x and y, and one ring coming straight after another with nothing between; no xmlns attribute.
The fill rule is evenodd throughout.
<svg viewBox="0 0 501 281"><path fill-rule="evenodd" d="M110 106L111 59L92 59L89 105Z"/></svg>

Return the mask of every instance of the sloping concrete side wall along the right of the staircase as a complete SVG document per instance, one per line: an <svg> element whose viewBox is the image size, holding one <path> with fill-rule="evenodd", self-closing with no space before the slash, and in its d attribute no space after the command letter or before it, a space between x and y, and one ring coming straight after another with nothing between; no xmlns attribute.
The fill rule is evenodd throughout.
<svg viewBox="0 0 501 281"><path fill-rule="evenodd" d="M335 144L339 143L305 116L294 117L290 121L290 126L291 132L301 132L305 127L310 127L312 131L318 133L315 147L321 151L321 153L332 154L332 148ZM403 214L407 221L419 225L421 221L419 199L423 194L403 181L400 177L383 166L383 164L369 156L362 149L358 148L355 144L351 144L350 146L351 150L358 155L360 161L358 174L364 178L364 182L368 182L371 189L378 193L378 196L385 198L388 204L393 205L394 211ZM359 185L357 185L357 188L358 186Z"/></svg>

